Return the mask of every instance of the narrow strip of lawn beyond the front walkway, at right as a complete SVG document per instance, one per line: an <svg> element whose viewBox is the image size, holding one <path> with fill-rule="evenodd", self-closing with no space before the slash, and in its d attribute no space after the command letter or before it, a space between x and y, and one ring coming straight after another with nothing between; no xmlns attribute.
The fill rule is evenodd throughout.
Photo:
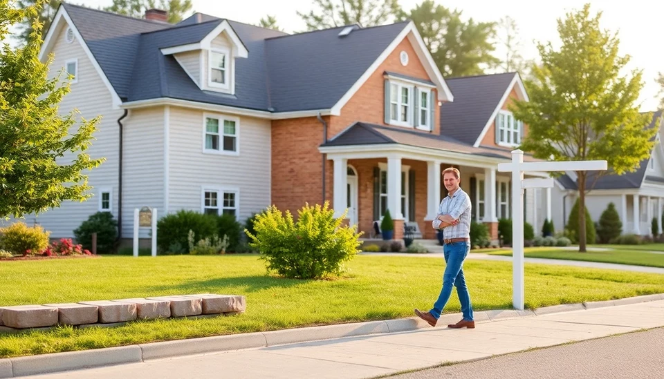
<svg viewBox="0 0 664 379"><path fill-rule="evenodd" d="M512 255L512 251L498 251L491 255ZM588 251L579 253L556 248L526 248L526 257L550 258L555 260L584 260L589 262L604 262L618 264L634 264L636 266L664 267L664 254L644 253L643 251L611 250Z"/></svg>

